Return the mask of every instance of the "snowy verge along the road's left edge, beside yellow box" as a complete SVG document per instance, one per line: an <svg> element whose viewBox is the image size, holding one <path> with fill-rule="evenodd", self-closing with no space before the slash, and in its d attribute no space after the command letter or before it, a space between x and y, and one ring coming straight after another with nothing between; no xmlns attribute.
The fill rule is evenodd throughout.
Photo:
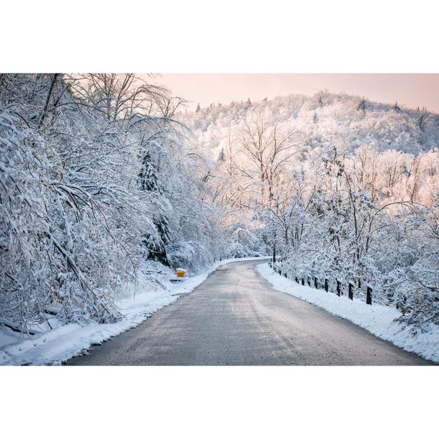
<svg viewBox="0 0 439 439"><path fill-rule="evenodd" d="M191 276L182 283L165 284L165 288L153 288L144 280L137 285L136 293L128 292L119 301L119 311L123 319L108 324L65 324L36 335L16 335L8 328L0 326L0 365L17 364L61 364L62 361L86 353L93 344L102 344L115 335L136 327L153 313L174 302L181 294L191 292L200 285L219 265L233 261L264 258L241 258L217 261L210 270ZM265 258L266 259L266 258Z"/></svg>

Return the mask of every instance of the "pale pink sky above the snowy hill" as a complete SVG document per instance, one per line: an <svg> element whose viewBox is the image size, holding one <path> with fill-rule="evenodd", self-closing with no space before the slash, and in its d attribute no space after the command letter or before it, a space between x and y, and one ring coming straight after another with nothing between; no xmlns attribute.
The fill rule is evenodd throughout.
<svg viewBox="0 0 439 439"><path fill-rule="evenodd" d="M193 109L212 102L261 100L278 95L332 93L439 112L439 74L421 73L164 73L156 82L190 101Z"/></svg>

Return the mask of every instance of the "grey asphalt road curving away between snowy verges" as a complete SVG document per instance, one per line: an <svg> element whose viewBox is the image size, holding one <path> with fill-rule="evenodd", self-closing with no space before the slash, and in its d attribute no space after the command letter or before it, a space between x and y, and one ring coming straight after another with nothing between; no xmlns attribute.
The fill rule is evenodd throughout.
<svg viewBox="0 0 439 439"><path fill-rule="evenodd" d="M261 261L222 265L190 294L68 365L432 364L272 289Z"/></svg>

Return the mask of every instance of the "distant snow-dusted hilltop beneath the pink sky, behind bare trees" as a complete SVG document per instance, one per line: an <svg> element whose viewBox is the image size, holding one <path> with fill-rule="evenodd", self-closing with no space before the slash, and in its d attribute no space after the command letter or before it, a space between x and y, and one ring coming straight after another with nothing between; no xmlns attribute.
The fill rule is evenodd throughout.
<svg viewBox="0 0 439 439"><path fill-rule="evenodd" d="M261 115L304 134L311 148L326 149L342 141L355 150L375 143L381 151L394 149L416 155L439 146L437 113L326 91L312 97L288 95L260 102L211 104L197 112L182 113L180 119L193 130L202 150L213 149L216 154L230 133L233 136L244 121Z"/></svg>

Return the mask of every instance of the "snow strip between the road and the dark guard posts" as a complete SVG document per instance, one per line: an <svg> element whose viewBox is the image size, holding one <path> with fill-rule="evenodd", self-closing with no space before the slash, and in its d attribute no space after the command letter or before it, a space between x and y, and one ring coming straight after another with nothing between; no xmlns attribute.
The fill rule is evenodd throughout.
<svg viewBox="0 0 439 439"><path fill-rule="evenodd" d="M370 306L355 298L349 300L348 296L339 297L325 292L324 289L299 285L274 272L268 263L257 265L257 271L274 289L317 305L335 316L351 320L359 327L367 329L383 340L392 342L405 351L439 362L439 327L436 324L430 324L425 333L418 331L413 335L414 327L394 321L401 316L401 313L394 307L374 304Z"/></svg>

